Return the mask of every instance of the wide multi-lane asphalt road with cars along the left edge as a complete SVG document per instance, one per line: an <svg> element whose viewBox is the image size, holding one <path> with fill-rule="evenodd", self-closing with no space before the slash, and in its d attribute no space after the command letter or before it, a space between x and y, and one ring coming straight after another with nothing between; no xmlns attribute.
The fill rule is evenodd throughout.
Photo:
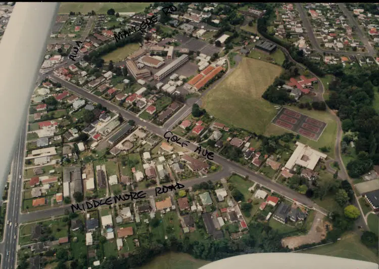
<svg viewBox="0 0 379 269"><path fill-rule="evenodd" d="M7 226L4 231L4 239L0 245L2 255L2 268L14 268L16 265L16 246L18 237L19 210L21 209L22 195L22 177L24 168L26 140L26 125L21 130L20 140L15 151L13 162L12 179L9 189L8 209L6 220L12 222L12 226ZM21 177L21 178L20 178ZM14 238L16 236L16 239ZM9 255L7 253L9 252Z"/></svg>

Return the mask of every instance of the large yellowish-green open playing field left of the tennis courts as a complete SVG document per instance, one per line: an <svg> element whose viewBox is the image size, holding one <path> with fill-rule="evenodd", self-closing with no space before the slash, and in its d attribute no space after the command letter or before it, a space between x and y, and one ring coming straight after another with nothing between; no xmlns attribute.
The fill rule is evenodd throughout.
<svg viewBox="0 0 379 269"><path fill-rule="evenodd" d="M276 115L276 109L262 94L281 71L277 65L244 57L222 83L207 93L202 106L230 125L262 134Z"/></svg>

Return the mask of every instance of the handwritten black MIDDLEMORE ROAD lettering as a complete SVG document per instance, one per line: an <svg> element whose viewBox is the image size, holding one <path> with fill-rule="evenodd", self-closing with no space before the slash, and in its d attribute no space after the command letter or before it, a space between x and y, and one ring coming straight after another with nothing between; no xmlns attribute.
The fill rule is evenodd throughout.
<svg viewBox="0 0 379 269"><path fill-rule="evenodd" d="M155 196L158 196L159 194L167 193L168 191L176 191L183 188L184 188L184 185L180 183L176 183L175 185L171 184L169 186L162 185L160 187L155 188ZM72 212L75 212L75 210L85 211L87 209L92 209L92 208L94 209L102 205L117 204L118 201L128 201L129 199L130 201L133 201L133 200L143 199L143 198L146 198L146 195L147 193L144 191L130 192L129 194L124 193L120 195L115 195L113 197L108 197L107 199L85 201L81 204L76 203L76 205L71 204L71 210Z"/></svg>

